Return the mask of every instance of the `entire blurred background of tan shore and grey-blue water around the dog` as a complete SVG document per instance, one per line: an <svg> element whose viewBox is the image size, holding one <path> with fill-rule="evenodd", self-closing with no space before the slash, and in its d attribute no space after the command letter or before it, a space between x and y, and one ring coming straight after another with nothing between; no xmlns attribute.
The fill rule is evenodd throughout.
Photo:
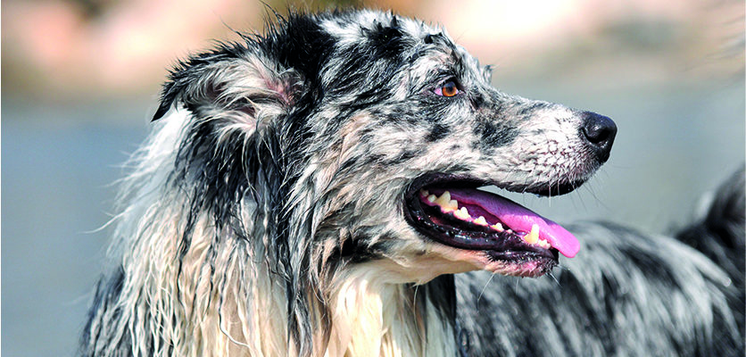
<svg viewBox="0 0 746 357"><path fill-rule="evenodd" d="M682 227L744 161L742 0L299 1L443 24L493 85L616 120L611 159L570 195L511 196L559 222ZM2 353L75 353L104 261L119 164L178 58L261 32L254 0L2 2ZM583 259L579 253L576 259Z"/></svg>

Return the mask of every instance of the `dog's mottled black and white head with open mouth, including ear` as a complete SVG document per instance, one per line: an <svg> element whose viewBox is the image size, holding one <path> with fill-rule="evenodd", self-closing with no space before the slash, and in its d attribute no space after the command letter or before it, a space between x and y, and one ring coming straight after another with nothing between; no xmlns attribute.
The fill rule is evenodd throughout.
<svg viewBox="0 0 746 357"><path fill-rule="evenodd" d="M476 188L573 190L609 158L609 118L503 94L443 29L391 13L291 14L243 40L180 63L155 119L187 109L173 176L198 182L192 204L217 220L252 220L234 226L289 275L538 276L577 252L564 228Z"/></svg>

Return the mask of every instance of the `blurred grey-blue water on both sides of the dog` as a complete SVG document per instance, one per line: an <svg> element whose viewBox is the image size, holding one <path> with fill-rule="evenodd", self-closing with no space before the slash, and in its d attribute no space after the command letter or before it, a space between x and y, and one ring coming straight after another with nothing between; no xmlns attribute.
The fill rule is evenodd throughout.
<svg viewBox="0 0 746 357"><path fill-rule="evenodd" d="M511 198L559 222L613 220L661 233L680 227L699 197L744 161L743 83L606 87L501 86L603 113L619 127L611 159L578 192L551 200ZM110 217L117 164L145 138L152 110L147 101L4 100L4 355L74 354L109 232L95 229Z"/></svg>

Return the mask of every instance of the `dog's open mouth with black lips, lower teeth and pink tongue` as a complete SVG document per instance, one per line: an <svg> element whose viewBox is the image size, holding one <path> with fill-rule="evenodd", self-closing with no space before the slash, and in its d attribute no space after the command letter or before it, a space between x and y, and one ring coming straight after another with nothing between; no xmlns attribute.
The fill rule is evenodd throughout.
<svg viewBox="0 0 746 357"><path fill-rule="evenodd" d="M484 252L491 260L536 267L557 265L559 254L572 258L579 244L559 224L526 207L477 187L468 179L423 179L405 197L407 219L438 243ZM435 181L435 182L434 182Z"/></svg>

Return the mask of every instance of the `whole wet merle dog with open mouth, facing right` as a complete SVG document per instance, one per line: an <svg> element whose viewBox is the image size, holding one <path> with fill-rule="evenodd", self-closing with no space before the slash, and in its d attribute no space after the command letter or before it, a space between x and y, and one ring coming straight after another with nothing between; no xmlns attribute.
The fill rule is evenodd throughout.
<svg viewBox="0 0 746 357"><path fill-rule="evenodd" d="M609 118L503 94L391 12L240 37L170 72L81 355L742 352L742 191L680 240L563 228L477 187L572 191L609 158Z"/></svg>

